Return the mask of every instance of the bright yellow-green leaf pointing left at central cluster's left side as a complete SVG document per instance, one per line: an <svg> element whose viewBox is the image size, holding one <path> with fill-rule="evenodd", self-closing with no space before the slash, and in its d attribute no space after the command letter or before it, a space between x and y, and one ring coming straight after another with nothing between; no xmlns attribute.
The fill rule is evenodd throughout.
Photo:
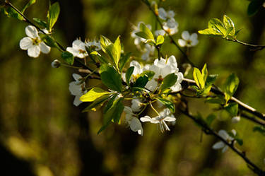
<svg viewBox="0 0 265 176"><path fill-rule="evenodd" d="M102 90L101 88L92 88L88 93L81 96L80 100L82 102L93 102L96 99L102 97L103 95L109 95L110 92Z"/></svg>

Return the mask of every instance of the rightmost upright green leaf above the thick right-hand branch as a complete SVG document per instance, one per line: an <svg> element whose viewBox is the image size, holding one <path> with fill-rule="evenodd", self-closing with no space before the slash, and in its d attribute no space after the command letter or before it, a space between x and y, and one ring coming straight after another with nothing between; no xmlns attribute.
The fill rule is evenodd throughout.
<svg viewBox="0 0 265 176"><path fill-rule="evenodd" d="M237 76L235 74L230 74L230 76L228 76L228 78L225 81L225 88L224 88L224 92L225 92L225 100L226 102L228 102L228 100L232 97L232 95L234 95L235 90L237 90L237 86L240 83L239 78L237 78Z"/></svg>

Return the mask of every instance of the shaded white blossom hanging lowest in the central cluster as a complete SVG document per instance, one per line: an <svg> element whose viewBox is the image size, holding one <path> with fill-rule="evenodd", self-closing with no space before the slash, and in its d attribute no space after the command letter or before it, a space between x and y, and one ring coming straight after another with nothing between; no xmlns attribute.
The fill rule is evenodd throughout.
<svg viewBox="0 0 265 176"><path fill-rule="evenodd" d="M125 119L126 122L129 124L131 131L138 132L141 136L143 136L143 127L140 120L134 115L132 112L131 107L124 107L124 112L126 113Z"/></svg>

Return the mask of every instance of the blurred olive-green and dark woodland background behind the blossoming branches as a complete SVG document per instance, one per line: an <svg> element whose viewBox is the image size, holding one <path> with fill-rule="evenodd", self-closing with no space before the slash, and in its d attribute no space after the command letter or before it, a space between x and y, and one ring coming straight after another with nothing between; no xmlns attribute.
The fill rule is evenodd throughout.
<svg viewBox="0 0 265 176"><path fill-rule="evenodd" d="M22 8L27 1L11 1ZM54 2L54 1L52 1ZM132 26L139 21L155 25L153 15L140 0L59 0L61 14L55 25L54 36L64 47L71 46L77 37L94 39L105 35L112 41L121 35L126 52L140 57L130 37ZM46 18L49 1L37 1L25 13ZM196 33L207 28L208 20L232 18L236 29L242 29L238 39L265 44L265 8L256 15L247 16L247 0L166 0L162 6L176 13L179 32ZM171 131L160 133L156 125L143 124L144 135L131 131L124 121L111 125L102 134L102 112L81 113L86 103L73 106L69 83L73 70L53 69L52 60L60 52L52 49L39 58L28 57L19 48L25 37L26 23L0 15L0 175L35 176L207 176L254 175L245 162L228 149L225 153L211 149L217 140L203 136L201 130L187 117L176 112L177 123ZM174 54L179 68L184 59L166 40L162 51ZM192 48L189 57L197 66L208 64L210 74L218 74L221 86L232 72L240 78L236 97L265 112L265 49L249 51L248 47L220 38L199 35L199 45ZM192 78L189 74L187 78ZM95 83L91 81L89 86ZM204 117L213 107L204 100L189 100L194 114ZM236 129L244 139L238 146L247 156L265 169L265 136L252 132L254 124L242 119L230 123L226 112L214 112L218 117L213 127Z"/></svg>

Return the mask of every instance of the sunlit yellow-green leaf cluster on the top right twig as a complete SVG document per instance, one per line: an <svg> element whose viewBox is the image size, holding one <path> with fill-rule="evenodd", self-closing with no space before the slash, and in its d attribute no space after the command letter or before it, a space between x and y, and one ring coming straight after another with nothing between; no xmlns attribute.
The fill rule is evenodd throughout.
<svg viewBox="0 0 265 176"><path fill-rule="evenodd" d="M208 21L208 28L199 30L198 33L203 35L220 36L225 39L235 40L240 30L235 30L235 25L231 18L224 15L223 22L218 18L211 18Z"/></svg>

